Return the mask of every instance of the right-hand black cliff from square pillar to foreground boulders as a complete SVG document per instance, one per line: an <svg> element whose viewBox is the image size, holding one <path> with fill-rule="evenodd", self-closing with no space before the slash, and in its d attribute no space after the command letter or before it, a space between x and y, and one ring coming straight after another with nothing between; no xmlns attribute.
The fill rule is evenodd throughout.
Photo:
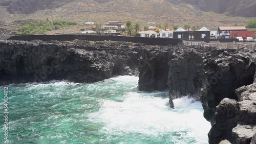
<svg viewBox="0 0 256 144"><path fill-rule="evenodd" d="M204 117L212 125L209 143L224 139L250 142L256 133L255 54L248 49L200 46L143 50L138 60L139 89L168 87L170 107L175 107L173 99L184 95L200 99Z"/></svg>

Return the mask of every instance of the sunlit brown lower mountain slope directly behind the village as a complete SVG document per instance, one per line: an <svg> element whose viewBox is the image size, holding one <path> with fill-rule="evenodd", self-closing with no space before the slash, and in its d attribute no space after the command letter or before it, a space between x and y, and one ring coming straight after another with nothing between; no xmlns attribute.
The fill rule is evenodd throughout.
<svg viewBox="0 0 256 144"><path fill-rule="evenodd" d="M26 0L32 1L32 0ZM216 29L218 26L245 25L251 18L231 17L214 12L204 12L197 6L174 0L45 0L31 2L24 13L15 13L18 7L25 7L17 1L0 2L0 28L4 25L17 25L16 20L63 19L77 21L82 25L85 21L131 20L146 25L146 22L157 22L162 25L168 22L171 26L185 24L206 26ZM195 0L196 1L196 0ZM19 1L20 2L20 1ZM35 5L36 4L36 5ZM12 14L10 11L13 11ZM6 24L7 23L7 24ZM77 29L79 30L80 27Z"/></svg>

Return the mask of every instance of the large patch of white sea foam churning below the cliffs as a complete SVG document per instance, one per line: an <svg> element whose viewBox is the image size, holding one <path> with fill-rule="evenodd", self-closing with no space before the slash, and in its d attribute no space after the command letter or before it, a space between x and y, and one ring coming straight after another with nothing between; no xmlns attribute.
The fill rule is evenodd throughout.
<svg viewBox="0 0 256 144"><path fill-rule="evenodd" d="M105 123L102 131L108 133L158 136L177 132L207 143L210 124L203 117L200 102L184 97L174 100L176 109L171 109L168 98L156 97L157 94L129 92L123 102L105 101L98 112L90 115L91 121Z"/></svg>

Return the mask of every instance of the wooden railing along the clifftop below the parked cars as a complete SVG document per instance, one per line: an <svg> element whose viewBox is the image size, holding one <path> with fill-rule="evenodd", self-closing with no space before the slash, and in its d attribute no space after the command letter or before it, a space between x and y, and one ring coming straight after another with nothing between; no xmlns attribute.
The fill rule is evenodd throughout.
<svg viewBox="0 0 256 144"><path fill-rule="evenodd" d="M247 47L249 49L255 50L256 42L218 42L218 41L210 41L206 43L204 41L183 41L184 45L200 45L200 46L211 46L218 47L220 49L234 49L239 50L243 47Z"/></svg>

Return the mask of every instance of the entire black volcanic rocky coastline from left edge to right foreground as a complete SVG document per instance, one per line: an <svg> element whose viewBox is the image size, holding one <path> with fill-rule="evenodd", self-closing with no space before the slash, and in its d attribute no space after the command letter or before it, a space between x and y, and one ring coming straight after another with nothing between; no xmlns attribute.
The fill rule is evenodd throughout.
<svg viewBox="0 0 256 144"><path fill-rule="evenodd" d="M0 85L138 75L138 89L200 100L209 143L255 143L256 51L112 41L0 41Z"/></svg>

